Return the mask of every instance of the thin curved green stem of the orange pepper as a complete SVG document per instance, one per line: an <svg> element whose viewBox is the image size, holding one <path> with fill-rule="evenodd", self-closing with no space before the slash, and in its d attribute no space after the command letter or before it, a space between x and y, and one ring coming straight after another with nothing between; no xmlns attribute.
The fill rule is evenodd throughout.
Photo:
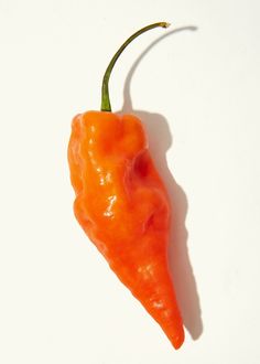
<svg viewBox="0 0 260 364"><path fill-rule="evenodd" d="M109 88L108 88L108 83L109 83L109 77L111 74L111 71L118 60L118 57L120 56L120 54L122 53L122 51L128 46L129 43L131 43L136 38L138 38L140 34L153 29L153 28L167 28L170 26L170 23L166 22L160 22L160 23L154 23L154 24L150 24L147 25L142 29L140 29L138 32L136 32L134 34L132 34L121 46L120 49L117 51L117 53L115 54L115 56L112 57L112 60L110 61L105 75L102 77L102 90L101 90L101 111L111 111L111 105L110 105L110 99L109 99Z"/></svg>

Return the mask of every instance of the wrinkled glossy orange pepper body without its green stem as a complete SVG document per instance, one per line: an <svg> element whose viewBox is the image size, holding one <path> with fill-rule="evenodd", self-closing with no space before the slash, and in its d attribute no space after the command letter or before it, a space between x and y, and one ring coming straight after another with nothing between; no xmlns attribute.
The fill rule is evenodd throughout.
<svg viewBox="0 0 260 364"><path fill-rule="evenodd" d="M167 263L170 203L141 121L106 111L76 116L68 162L77 221L178 349L184 330Z"/></svg>

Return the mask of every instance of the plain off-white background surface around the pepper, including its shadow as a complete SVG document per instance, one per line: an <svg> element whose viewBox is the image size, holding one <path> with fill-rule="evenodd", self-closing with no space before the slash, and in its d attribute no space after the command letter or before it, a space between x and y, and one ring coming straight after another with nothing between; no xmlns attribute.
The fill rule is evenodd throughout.
<svg viewBox="0 0 260 364"><path fill-rule="evenodd" d="M258 0L0 0L2 364L260 362L259 13ZM113 110L142 117L175 206L180 351L76 223L66 159L113 52L155 21L172 26L126 50L110 89Z"/></svg>

